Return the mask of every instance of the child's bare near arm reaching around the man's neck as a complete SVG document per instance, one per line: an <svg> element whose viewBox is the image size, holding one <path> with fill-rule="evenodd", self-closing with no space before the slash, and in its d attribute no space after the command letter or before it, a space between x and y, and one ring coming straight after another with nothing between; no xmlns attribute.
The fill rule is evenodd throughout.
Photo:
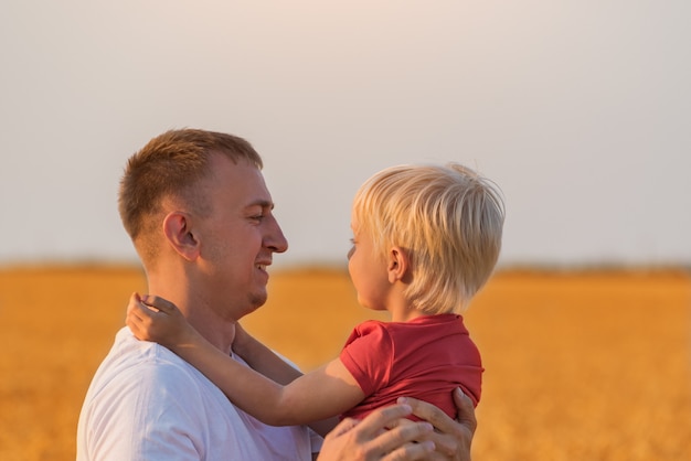
<svg viewBox="0 0 691 461"><path fill-rule="evenodd" d="M127 324L135 335L153 340L194 365L233 404L272 426L306 425L333 417L364 398L340 360L281 386L241 365L209 343L168 301L152 298L155 311L132 297ZM327 425L328 426L328 425ZM330 427L312 427L326 436Z"/></svg>

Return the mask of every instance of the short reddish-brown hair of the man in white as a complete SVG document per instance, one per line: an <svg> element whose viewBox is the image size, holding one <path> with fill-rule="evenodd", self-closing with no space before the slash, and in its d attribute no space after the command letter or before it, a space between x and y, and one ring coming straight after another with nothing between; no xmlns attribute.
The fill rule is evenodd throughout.
<svg viewBox="0 0 691 461"><path fill-rule="evenodd" d="M156 229L161 225L164 199L174 197L200 214L210 212L198 185L210 174L212 154L263 167L259 154L243 138L189 128L167 131L129 158L118 210L145 266L157 257Z"/></svg>

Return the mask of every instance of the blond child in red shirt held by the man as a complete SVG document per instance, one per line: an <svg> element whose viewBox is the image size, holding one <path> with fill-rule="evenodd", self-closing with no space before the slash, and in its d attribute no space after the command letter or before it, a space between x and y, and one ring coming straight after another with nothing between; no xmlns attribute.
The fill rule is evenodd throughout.
<svg viewBox="0 0 691 461"><path fill-rule="evenodd" d="M266 363L247 361L284 385L212 346L160 298L135 294L127 323L137 337L171 349L268 425L339 414L361 419L402 396L455 418L453 389L460 386L476 406L480 399L483 369L460 312L495 268L503 218L493 185L459 164L401 165L369 179L353 202L348 270L358 301L389 311L391 322L358 325L338 358L294 380L277 378L288 372L267 373ZM236 345L252 344L248 339L238 325L233 349L244 358L246 347ZM277 363L270 366L283 366ZM330 425L316 429L323 435Z"/></svg>

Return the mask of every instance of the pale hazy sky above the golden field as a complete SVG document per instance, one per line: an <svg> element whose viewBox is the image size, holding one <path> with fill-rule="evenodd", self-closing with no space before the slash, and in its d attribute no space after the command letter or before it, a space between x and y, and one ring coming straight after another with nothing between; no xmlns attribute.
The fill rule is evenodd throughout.
<svg viewBox="0 0 691 461"><path fill-rule="evenodd" d="M691 2L3 0L0 266L134 262L127 158L248 139L290 249L344 264L358 186L456 161L500 266L691 265Z"/></svg>

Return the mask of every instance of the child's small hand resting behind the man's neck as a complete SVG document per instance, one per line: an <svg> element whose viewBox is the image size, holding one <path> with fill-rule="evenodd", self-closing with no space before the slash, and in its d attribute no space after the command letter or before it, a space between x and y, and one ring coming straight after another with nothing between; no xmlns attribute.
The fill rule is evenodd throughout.
<svg viewBox="0 0 691 461"><path fill-rule="evenodd" d="M157 342L172 351L189 342L194 333L176 304L156 296L132 293L126 323L137 339Z"/></svg>

